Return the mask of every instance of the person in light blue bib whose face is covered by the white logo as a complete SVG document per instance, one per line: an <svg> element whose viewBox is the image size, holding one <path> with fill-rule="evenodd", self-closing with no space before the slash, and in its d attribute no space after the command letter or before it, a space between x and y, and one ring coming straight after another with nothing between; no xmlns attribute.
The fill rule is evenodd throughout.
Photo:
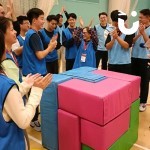
<svg viewBox="0 0 150 150"><path fill-rule="evenodd" d="M127 15L119 15L118 10L111 12L112 25L114 30L108 34L106 48L108 50L108 70L131 74L130 47L132 46L133 35L125 35L118 28L118 18L127 20ZM107 29L109 31L109 28Z"/></svg>

